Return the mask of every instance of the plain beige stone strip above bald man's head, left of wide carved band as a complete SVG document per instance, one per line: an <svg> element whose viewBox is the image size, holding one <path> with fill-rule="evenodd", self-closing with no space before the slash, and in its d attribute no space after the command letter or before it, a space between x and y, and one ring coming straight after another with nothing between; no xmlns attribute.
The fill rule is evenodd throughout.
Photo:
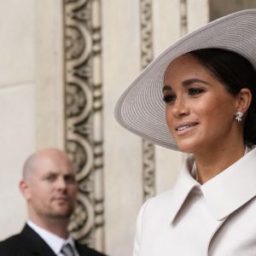
<svg viewBox="0 0 256 256"><path fill-rule="evenodd" d="M33 3L37 149L64 149L65 144L62 2L38 0Z"/></svg>

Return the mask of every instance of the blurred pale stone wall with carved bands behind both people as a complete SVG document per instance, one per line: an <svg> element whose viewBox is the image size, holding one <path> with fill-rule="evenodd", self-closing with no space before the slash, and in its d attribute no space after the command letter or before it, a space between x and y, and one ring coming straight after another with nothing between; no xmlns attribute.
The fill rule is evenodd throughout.
<svg viewBox="0 0 256 256"><path fill-rule="evenodd" d="M177 38L253 8L256 0L1 0L0 239L26 221L24 160L55 147L76 166L73 236L131 255L139 208L172 188L183 155L125 131L114 105Z"/></svg>

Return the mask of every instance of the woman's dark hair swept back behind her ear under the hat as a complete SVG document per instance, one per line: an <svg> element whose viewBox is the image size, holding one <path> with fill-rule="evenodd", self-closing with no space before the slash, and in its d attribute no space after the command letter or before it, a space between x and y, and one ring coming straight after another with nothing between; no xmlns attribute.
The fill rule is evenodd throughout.
<svg viewBox="0 0 256 256"><path fill-rule="evenodd" d="M256 144L256 71L245 57L226 49L196 49L190 52L224 84L231 95L251 90L252 102L244 125L245 143Z"/></svg>

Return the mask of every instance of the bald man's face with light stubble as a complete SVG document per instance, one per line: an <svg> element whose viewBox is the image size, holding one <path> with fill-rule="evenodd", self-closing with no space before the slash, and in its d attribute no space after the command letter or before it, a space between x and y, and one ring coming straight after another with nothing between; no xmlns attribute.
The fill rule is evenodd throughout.
<svg viewBox="0 0 256 256"><path fill-rule="evenodd" d="M69 218L73 213L77 183L71 162L59 151L44 152L32 164L23 194L30 218Z"/></svg>

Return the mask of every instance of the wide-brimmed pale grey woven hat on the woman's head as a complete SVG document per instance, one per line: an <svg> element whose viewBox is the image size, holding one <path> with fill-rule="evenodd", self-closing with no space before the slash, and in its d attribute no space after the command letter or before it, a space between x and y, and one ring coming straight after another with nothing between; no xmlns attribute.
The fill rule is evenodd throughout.
<svg viewBox="0 0 256 256"><path fill-rule="evenodd" d="M256 9L213 20L168 47L120 96L115 107L119 124L152 143L178 150L166 125L166 105L162 100L164 73L178 56L207 48L235 51L256 68Z"/></svg>

